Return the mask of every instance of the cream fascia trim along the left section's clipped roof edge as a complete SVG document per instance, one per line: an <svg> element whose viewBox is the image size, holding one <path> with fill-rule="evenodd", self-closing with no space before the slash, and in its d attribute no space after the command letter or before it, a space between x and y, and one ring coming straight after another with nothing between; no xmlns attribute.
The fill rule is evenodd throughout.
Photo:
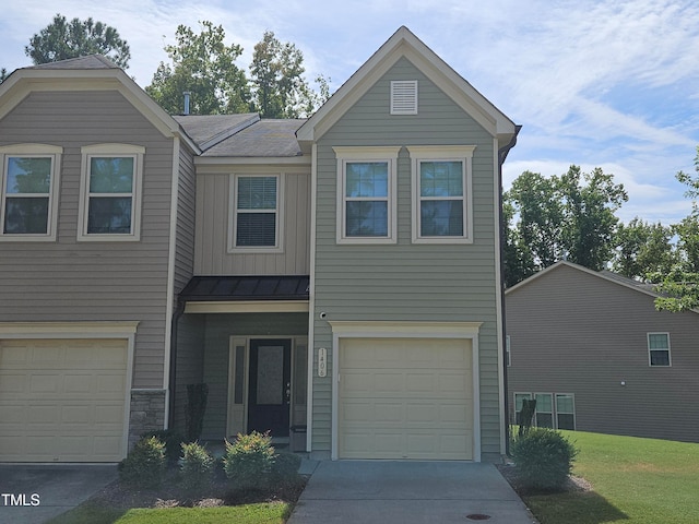
<svg viewBox="0 0 699 524"><path fill-rule="evenodd" d="M5 86L5 83L9 85ZM164 136L180 136L197 154L201 150L153 98L120 69L22 69L0 84L0 118L29 93L49 91L117 91L129 100Z"/></svg>

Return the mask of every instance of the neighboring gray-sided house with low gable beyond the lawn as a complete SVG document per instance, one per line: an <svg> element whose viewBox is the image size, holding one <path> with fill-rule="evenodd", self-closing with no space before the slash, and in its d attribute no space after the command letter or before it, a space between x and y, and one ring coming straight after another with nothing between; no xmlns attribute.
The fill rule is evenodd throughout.
<svg viewBox="0 0 699 524"><path fill-rule="evenodd" d="M656 311L652 287L558 262L506 291L510 420L699 441L699 314Z"/></svg>

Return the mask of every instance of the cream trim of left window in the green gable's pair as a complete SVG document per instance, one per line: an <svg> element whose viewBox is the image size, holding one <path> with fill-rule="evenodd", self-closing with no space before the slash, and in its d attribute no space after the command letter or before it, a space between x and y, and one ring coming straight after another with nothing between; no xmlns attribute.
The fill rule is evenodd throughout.
<svg viewBox="0 0 699 524"><path fill-rule="evenodd" d="M337 158L337 217L336 240L337 243L395 243L396 242L396 193L398 193L398 154L400 146L335 146L333 147ZM388 235L384 237L348 237L346 236L346 203L345 198L345 166L348 162L386 162L388 163ZM379 199L375 199L379 200Z"/></svg>

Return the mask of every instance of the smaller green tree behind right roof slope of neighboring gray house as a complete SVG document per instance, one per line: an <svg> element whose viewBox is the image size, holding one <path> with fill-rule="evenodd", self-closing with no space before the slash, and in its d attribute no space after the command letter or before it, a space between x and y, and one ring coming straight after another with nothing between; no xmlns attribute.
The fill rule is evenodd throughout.
<svg viewBox="0 0 699 524"><path fill-rule="evenodd" d="M652 274L668 273L675 261L673 227L633 218L619 224L612 269L629 278L648 282Z"/></svg>

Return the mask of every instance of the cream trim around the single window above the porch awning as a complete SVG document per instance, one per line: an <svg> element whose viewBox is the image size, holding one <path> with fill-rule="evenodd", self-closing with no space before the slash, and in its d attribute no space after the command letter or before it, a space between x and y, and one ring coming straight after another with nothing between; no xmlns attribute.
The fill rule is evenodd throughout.
<svg viewBox="0 0 699 524"><path fill-rule="evenodd" d="M274 246L236 246L237 219L238 219L238 179L239 178L276 178L276 222L274 223ZM270 174L232 174L228 203L228 253L283 253L284 252L284 180L283 172ZM258 210L272 212L272 210Z"/></svg>

